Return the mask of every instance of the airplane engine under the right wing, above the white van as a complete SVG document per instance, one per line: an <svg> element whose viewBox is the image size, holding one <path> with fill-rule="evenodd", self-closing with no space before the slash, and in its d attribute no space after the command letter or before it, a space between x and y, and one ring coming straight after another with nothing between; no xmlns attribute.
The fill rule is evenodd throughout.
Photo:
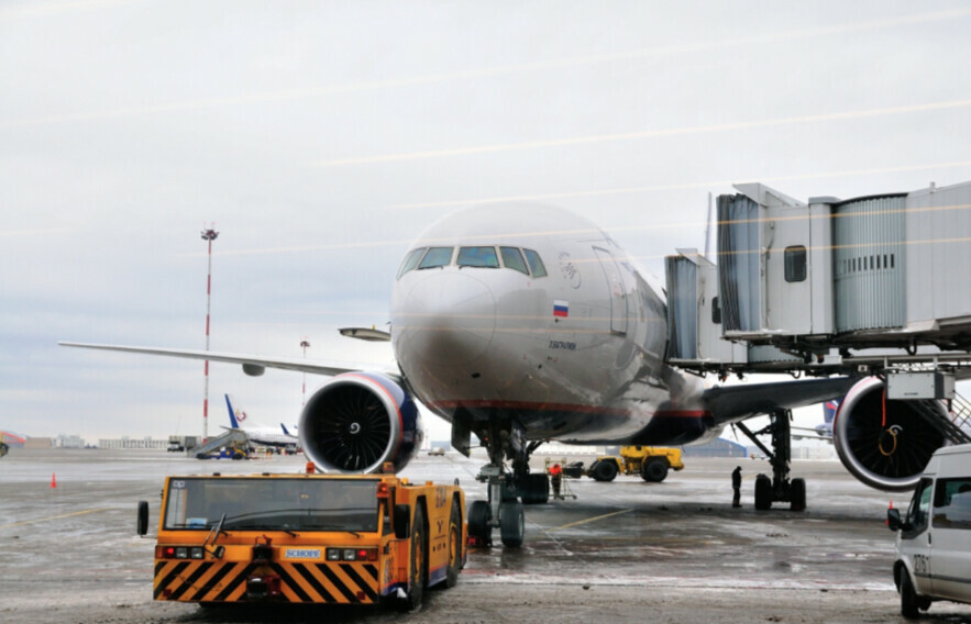
<svg viewBox="0 0 971 624"><path fill-rule="evenodd" d="M944 404L936 404L947 415ZM832 444L842 465L878 490L913 490L945 443L913 402L885 399L883 381L875 377L850 388L832 423Z"/></svg>

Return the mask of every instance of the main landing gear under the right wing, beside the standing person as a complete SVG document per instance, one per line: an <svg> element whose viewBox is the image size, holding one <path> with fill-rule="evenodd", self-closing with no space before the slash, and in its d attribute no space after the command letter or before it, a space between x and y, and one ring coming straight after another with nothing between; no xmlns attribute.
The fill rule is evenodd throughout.
<svg viewBox="0 0 971 624"><path fill-rule="evenodd" d="M752 443L762 449L772 466L772 479L766 475L755 477L755 509L764 511L772 508L772 503L790 503L792 511L806 510L806 481L803 479L788 478L788 465L792 460L790 447L790 421L791 410L776 410L769 414L769 426L752 433L744 424L736 426L748 436ZM772 450L759 441L758 435L772 435Z"/></svg>

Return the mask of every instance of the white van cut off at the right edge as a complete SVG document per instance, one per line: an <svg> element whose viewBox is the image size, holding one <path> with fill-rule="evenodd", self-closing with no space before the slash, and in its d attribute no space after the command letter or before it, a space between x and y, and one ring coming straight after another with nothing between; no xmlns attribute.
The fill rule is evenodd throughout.
<svg viewBox="0 0 971 624"><path fill-rule="evenodd" d="M901 614L936 600L971 604L971 444L940 448L927 463L907 516L886 512L897 531L893 578Z"/></svg>

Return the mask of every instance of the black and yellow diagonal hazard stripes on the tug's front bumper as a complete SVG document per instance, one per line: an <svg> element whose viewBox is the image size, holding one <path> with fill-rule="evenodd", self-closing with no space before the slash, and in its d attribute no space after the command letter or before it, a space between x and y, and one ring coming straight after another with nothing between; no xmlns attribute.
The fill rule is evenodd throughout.
<svg viewBox="0 0 971 624"><path fill-rule="evenodd" d="M274 575L289 602L367 604L378 599L377 566L367 562L275 562L159 560L155 600L243 602L246 579Z"/></svg>

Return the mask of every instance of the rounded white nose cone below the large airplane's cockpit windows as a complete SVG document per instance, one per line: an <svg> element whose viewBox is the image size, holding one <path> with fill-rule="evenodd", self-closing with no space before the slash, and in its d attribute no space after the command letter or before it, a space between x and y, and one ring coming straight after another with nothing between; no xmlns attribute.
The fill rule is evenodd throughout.
<svg viewBox="0 0 971 624"><path fill-rule="evenodd" d="M406 294L399 312L395 332L407 342L407 353L426 366L470 363L486 353L496 331L492 291L463 272L424 277Z"/></svg>

